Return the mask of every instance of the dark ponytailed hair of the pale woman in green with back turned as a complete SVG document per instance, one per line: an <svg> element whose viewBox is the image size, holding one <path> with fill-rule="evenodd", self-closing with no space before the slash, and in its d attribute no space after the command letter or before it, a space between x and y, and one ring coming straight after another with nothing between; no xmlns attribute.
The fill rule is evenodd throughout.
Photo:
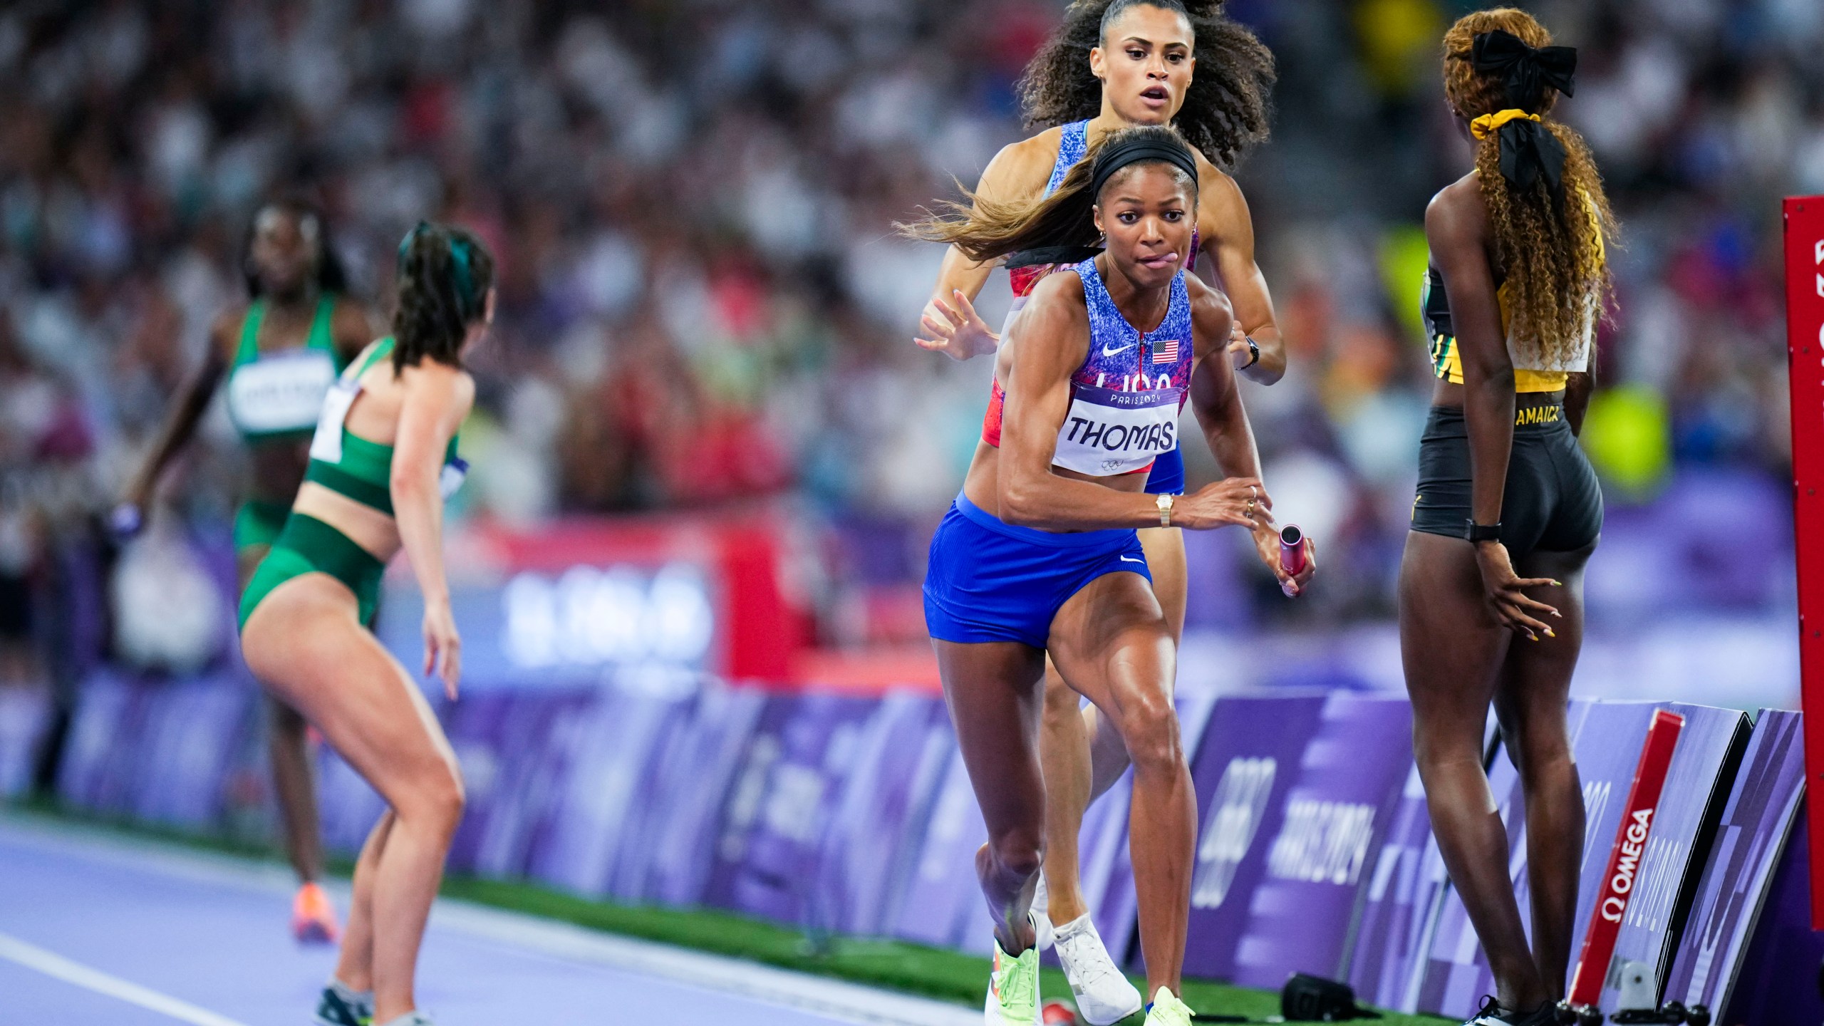
<svg viewBox="0 0 1824 1026"><path fill-rule="evenodd" d="M399 305L392 314L392 371L421 360L461 367L469 325L487 314L494 256L449 225L420 223L399 243Z"/></svg>

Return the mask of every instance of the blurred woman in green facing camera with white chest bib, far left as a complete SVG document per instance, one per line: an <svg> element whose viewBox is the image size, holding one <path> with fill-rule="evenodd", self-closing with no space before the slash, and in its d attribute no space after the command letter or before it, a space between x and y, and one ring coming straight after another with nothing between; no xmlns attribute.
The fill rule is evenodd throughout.
<svg viewBox="0 0 1824 1026"><path fill-rule="evenodd" d="M328 245L323 215L308 204L261 208L244 267L254 301L215 319L202 365L179 389L146 462L113 513L120 533L139 529L159 476L190 444L202 413L226 383L228 413L246 444L250 469L233 526L243 588L279 537L305 478L305 453L323 394L374 338L367 310L343 296L343 270ZM292 931L299 940L328 942L337 927L328 896L317 885L323 845L305 721L283 705L268 705L274 792L286 853L299 878Z"/></svg>

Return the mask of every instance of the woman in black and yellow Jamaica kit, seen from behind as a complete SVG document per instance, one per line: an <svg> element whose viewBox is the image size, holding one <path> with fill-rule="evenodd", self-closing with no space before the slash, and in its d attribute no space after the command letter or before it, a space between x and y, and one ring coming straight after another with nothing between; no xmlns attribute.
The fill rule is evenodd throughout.
<svg viewBox="0 0 1824 1026"><path fill-rule="evenodd" d="M1583 860L1565 697L1601 489L1576 434L1614 217L1589 148L1547 119L1576 69L1576 51L1550 42L1516 9L1468 15L1445 35L1445 99L1476 141L1476 168L1425 212L1437 389L1399 570L1414 754L1496 980L1470 1019L1483 1026L1554 1021ZM1483 772L1490 701L1527 798L1530 944Z"/></svg>

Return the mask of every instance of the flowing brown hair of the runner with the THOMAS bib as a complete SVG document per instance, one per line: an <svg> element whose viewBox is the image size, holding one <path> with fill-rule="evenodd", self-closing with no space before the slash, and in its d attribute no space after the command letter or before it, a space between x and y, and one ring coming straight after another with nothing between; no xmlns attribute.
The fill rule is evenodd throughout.
<svg viewBox="0 0 1824 1026"><path fill-rule="evenodd" d="M1096 219L1091 214L1100 199L1091 194L1093 177L1096 173L1096 155L1109 146L1129 141L1176 146L1186 153L1186 157L1189 157L1189 144L1184 137L1164 124L1122 128L1098 139L1096 144L1089 148L1089 153L1063 175L1063 181L1058 183L1058 188L1052 190L1051 195L1014 203L994 203L965 194L969 203L941 204L948 217L932 214L910 225L896 225L896 228L899 228L901 236L912 239L950 243L974 261L990 261L1023 250L1091 246L1096 243L1098 236ZM1136 161L1127 168L1145 164L1164 164L1171 168L1173 175L1195 201L1197 179L1187 177L1182 168L1176 168L1164 159ZM1127 168L1122 168L1116 175L1127 173ZM1114 181L1118 179L1109 179L1104 188L1114 184Z"/></svg>

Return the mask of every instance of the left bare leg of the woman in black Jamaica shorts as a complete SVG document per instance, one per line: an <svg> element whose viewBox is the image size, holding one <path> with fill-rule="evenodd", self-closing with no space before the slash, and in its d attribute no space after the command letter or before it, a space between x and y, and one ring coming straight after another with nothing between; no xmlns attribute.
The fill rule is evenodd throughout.
<svg viewBox="0 0 1824 1026"><path fill-rule="evenodd" d="M1541 644L1512 639L1494 619L1470 544L1410 531L1399 568L1399 648L1432 832L1488 953L1496 997L1505 1008L1530 1011L1549 993L1519 924L1507 827L1483 770L1488 701L1510 643Z"/></svg>

